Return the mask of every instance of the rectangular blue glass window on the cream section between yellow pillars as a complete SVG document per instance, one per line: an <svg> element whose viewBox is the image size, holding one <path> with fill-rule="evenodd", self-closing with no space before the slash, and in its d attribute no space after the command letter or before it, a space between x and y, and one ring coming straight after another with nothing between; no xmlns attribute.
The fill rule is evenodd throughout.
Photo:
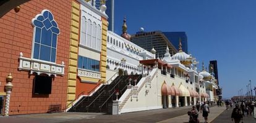
<svg viewBox="0 0 256 123"><path fill-rule="evenodd" d="M100 61L93 60L92 58L82 57L79 55L77 66L80 69L100 72Z"/></svg>

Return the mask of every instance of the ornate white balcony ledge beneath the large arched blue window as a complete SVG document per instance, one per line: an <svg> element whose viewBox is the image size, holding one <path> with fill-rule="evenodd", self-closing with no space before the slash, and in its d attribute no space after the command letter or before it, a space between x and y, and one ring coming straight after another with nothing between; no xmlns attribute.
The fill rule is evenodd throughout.
<svg viewBox="0 0 256 123"><path fill-rule="evenodd" d="M18 69L20 71L30 71L30 74L37 73L37 74L48 74L48 76L54 75L64 75L64 62L61 62L62 65L52 63L52 62L45 62L43 60L36 60L32 58L25 58L23 57L22 52L20 52L20 65Z"/></svg>

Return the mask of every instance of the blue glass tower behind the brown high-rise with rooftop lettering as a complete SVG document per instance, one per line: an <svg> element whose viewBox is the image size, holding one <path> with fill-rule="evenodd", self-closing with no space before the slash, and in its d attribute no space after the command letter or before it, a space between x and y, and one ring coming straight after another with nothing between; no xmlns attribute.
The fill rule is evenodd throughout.
<svg viewBox="0 0 256 123"><path fill-rule="evenodd" d="M179 39L181 39L182 50L189 54L189 48L187 46L187 34L184 31L180 32L163 32L176 49L179 49Z"/></svg>

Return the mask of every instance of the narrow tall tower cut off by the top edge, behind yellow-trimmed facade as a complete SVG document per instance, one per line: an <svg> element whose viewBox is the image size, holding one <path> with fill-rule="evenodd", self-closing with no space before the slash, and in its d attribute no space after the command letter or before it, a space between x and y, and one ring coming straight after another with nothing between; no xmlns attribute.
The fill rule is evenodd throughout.
<svg viewBox="0 0 256 123"><path fill-rule="evenodd" d="M114 32L114 0L106 1L106 14L108 15L108 30Z"/></svg>

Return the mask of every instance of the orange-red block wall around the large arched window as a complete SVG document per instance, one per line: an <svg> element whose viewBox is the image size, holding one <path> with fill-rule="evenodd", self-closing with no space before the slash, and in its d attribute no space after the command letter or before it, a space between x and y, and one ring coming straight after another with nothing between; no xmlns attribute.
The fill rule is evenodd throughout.
<svg viewBox="0 0 256 123"><path fill-rule="evenodd" d="M53 13L58 23L58 49L56 63L65 63L64 76L53 79L51 94L36 96L32 94L33 77L28 71L18 71L19 54L31 58L33 26L32 18L43 9ZM67 71L70 42L70 0L35 0L20 5L20 12L11 10L0 18L0 92L4 92L6 76L11 72L14 85L11 93L9 114L46 113L49 105L66 106Z"/></svg>

